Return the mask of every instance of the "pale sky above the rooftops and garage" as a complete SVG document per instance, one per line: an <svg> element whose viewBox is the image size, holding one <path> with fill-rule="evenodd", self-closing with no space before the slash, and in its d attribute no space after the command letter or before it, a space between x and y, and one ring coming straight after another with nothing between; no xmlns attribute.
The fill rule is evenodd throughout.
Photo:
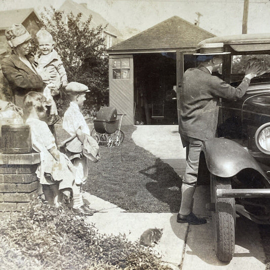
<svg viewBox="0 0 270 270"><path fill-rule="evenodd" d="M73 0L87 3L120 31L143 31L172 16L194 23L215 35L242 33L244 0ZM64 0L0 0L0 11L35 8L37 12ZM1 27L1 25L0 25ZM248 33L270 33L270 0L249 0Z"/></svg>

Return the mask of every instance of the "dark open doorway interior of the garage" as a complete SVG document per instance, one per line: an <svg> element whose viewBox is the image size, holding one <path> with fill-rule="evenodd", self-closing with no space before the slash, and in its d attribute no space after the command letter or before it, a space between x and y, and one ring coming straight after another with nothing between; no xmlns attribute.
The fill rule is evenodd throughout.
<svg viewBox="0 0 270 270"><path fill-rule="evenodd" d="M178 124L176 53L134 54L134 123Z"/></svg>

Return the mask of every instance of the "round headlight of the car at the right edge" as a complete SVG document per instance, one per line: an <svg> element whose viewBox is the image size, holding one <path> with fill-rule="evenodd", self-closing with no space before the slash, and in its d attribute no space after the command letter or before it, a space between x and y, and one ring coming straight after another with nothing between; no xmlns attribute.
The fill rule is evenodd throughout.
<svg viewBox="0 0 270 270"><path fill-rule="evenodd" d="M259 150L270 155L270 123L260 126L255 133L254 139Z"/></svg>

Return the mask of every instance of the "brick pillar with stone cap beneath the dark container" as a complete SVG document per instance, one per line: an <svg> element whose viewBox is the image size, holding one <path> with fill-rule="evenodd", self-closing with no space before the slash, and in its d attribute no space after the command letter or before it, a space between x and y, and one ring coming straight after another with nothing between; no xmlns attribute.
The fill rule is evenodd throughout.
<svg viewBox="0 0 270 270"><path fill-rule="evenodd" d="M0 211L21 211L35 196L39 153L0 153Z"/></svg>

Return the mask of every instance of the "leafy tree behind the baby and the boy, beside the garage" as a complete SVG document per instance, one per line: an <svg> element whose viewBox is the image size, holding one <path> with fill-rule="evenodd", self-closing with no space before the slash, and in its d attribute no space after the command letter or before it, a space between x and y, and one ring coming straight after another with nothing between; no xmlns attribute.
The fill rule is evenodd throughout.
<svg viewBox="0 0 270 270"><path fill-rule="evenodd" d="M90 28L91 16L82 21L81 13L65 15L53 8L46 9L41 18L41 26L54 38L54 48L63 61L68 81L85 84L91 90L85 102L86 112L107 105L108 56L102 37L104 28ZM63 113L68 106L67 97L58 97L57 103Z"/></svg>

